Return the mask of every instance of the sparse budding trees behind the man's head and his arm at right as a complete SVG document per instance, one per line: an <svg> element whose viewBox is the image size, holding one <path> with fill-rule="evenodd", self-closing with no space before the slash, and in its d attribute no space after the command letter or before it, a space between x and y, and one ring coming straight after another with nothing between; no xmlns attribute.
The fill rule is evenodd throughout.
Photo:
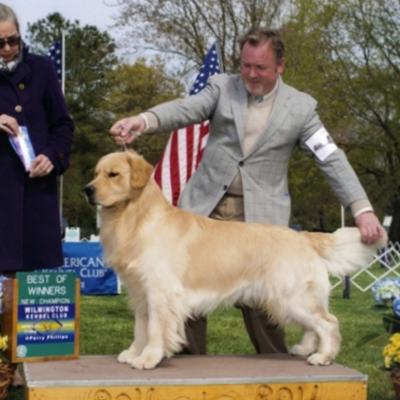
<svg viewBox="0 0 400 400"><path fill-rule="evenodd" d="M155 50L163 56L181 57L187 62L185 67L198 66L215 38L228 73L239 69L239 37L250 26L281 27L288 59L285 82L319 101L323 123L355 166L378 215L397 203L400 206L397 0L294 0L290 4L284 0L245 4L119 0L118 5L116 23L135 27L130 44L135 43L136 51ZM188 69L181 72L188 76ZM301 219L303 214L305 225L319 221L315 228L337 224L338 202L321 185L314 166L299 155L293 165L297 168L291 171L293 192L299 195L294 217ZM310 206L307 196L297 190L305 185L318 199L318 207ZM330 211L334 208L335 213ZM398 219L400 227L400 212Z"/></svg>

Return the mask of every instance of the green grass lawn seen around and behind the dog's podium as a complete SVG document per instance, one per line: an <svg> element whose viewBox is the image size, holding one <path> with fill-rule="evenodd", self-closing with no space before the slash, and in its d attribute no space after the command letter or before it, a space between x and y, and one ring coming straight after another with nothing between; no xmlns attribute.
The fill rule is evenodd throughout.
<svg viewBox="0 0 400 400"><path fill-rule="evenodd" d="M380 273L375 268L377 274ZM367 278L360 277L360 283ZM389 373L383 369L382 349L389 337L379 314L370 310L375 304L371 291L360 292L351 287L351 298L345 299L342 287L337 287L330 301L331 312L340 323L342 348L336 362L368 375L368 400L394 400L395 392ZM117 355L131 344L134 316L128 309L125 292L121 295L82 296L80 355ZM295 326L286 329L288 347L301 337ZM382 338L357 347L358 340L371 332L382 333ZM241 312L235 308L217 309L208 318L208 353L254 354ZM8 399L22 399L21 390L12 389Z"/></svg>

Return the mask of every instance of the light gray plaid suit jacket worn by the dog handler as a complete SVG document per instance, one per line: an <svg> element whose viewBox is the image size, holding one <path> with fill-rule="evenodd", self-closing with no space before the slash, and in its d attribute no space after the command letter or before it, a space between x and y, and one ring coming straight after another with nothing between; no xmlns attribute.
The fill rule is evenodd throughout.
<svg viewBox="0 0 400 400"><path fill-rule="evenodd" d="M310 95L280 80L264 133L244 155L248 95L240 75L214 75L197 95L152 108L158 131L169 131L210 120L210 135L199 168L191 177L179 206L210 215L239 171L242 175L245 220L288 225L290 195L287 169L295 146L314 156L305 141L323 125ZM366 199L344 152L336 149L324 162L315 157L342 205Z"/></svg>

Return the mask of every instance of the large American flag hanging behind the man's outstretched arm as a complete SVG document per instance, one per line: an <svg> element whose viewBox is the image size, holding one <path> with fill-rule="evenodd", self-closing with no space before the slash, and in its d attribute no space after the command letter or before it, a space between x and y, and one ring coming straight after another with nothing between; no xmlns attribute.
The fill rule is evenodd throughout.
<svg viewBox="0 0 400 400"><path fill-rule="evenodd" d="M220 62L215 43L208 51L189 95L195 95L204 89L208 76L220 73ZM208 133L208 121L186 126L171 133L163 155L155 165L154 178L172 205L178 204L179 196L186 183L200 164Z"/></svg>

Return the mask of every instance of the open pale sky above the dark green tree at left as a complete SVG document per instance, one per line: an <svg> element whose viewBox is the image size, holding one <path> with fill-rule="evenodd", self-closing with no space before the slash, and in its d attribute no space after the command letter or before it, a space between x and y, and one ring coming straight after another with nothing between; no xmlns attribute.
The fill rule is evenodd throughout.
<svg viewBox="0 0 400 400"><path fill-rule="evenodd" d="M108 31L112 37L116 31L109 29L113 24L112 15L118 8L109 6L113 0L0 0L13 8L21 28L23 39L26 38L27 23L35 23L40 18L58 12L66 19L80 22L81 26L96 25L101 31ZM108 5L106 5L108 4Z"/></svg>

